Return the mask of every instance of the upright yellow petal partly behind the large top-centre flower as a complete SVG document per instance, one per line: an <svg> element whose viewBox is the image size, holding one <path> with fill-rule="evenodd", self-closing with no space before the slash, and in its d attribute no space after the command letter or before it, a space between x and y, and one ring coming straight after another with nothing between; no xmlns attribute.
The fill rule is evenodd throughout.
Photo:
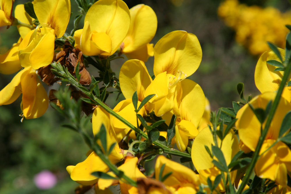
<svg viewBox="0 0 291 194"><path fill-rule="evenodd" d="M149 6L139 4L130 10L130 27L123 40L123 53L130 53L144 47L155 36L157 16Z"/></svg>

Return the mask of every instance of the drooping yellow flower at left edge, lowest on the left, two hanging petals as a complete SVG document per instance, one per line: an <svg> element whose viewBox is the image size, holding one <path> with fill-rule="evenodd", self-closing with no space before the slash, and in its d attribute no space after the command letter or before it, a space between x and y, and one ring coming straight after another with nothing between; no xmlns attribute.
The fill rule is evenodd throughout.
<svg viewBox="0 0 291 194"><path fill-rule="evenodd" d="M26 119L42 116L48 107L47 92L31 67L18 72L0 91L0 106L13 103L22 93L21 109Z"/></svg>

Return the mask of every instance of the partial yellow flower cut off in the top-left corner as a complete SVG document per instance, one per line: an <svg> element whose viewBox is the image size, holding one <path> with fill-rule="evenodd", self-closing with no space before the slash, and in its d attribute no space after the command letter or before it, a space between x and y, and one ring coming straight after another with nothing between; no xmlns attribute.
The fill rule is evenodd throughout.
<svg viewBox="0 0 291 194"><path fill-rule="evenodd" d="M14 0L1 0L0 1L0 27L10 26L13 23L12 17Z"/></svg>

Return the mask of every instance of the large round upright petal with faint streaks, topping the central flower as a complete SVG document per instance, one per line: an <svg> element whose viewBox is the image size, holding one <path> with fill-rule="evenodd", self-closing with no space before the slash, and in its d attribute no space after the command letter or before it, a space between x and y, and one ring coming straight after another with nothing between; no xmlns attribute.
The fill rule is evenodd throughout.
<svg viewBox="0 0 291 194"><path fill-rule="evenodd" d="M167 72L184 77L192 75L200 65L202 50L197 37L186 31L173 31L161 38L154 47L154 74Z"/></svg>

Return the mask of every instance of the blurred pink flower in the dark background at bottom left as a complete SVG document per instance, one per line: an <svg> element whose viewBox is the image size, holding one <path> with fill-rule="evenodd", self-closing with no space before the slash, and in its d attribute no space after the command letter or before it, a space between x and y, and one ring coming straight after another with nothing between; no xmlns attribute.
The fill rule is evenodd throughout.
<svg viewBox="0 0 291 194"><path fill-rule="evenodd" d="M48 170L43 170L34 176L34 183L39 189L46 190L55 186L56 175Z"/></svg>

